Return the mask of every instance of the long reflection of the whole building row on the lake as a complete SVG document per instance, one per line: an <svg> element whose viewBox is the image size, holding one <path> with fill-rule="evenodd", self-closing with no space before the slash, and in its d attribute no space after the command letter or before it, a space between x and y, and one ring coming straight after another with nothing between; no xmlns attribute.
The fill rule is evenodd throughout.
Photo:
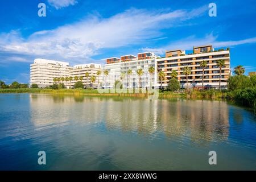
<svg viewBox="0 0 256 182"><path fill-rule="evenodd" d="M36 129L64 125L104 126L150 138L195 143L226 140L229 111L226 102L146 100L31 94L31 121Z"/></svg>

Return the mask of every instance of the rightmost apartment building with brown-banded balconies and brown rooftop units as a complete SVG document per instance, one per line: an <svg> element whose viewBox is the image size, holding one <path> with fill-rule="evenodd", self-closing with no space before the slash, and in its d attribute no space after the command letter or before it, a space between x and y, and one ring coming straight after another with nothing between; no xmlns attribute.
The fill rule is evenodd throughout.
<svg viewBox="0 0 256 182"><path fill-rule="evenodd" d="M174 50L166 51L166 57L156 59L157 71L163 71L165 79L163 86L168 85L171 78L171 72L177 71L177 79L182 87L186 85L186 76L183 74L183 68L191 68L191 75L188 75L188 86L202 86L203 68L200 67L201 61L207 61L207 68L204 70L204 86L217 87L220 80L220 68L217 67L217 60L225 60L225 67L221 72L221 86L227 85L230 76L230 52L229 49L220 49L214 51L212 46L194 47L193 53L185 54L185 51ZM157 84L157 83L155 83ZM158 82L160 84L160 82Z"/></svg>

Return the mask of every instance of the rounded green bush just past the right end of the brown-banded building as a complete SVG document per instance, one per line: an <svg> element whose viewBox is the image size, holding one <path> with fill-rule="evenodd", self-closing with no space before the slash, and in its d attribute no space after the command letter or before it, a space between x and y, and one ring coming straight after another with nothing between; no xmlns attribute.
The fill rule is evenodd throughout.
<svg viewBox="0 0 256 182"><path fill-rule="evenodd" d="M251 79L253 80L255 78L251 78ZM230 76L228 80L228 89L230 91L248 88L248 87L251 87L252 85L253 84L251 83L250 77L247 77L245 75Z"/></svg>

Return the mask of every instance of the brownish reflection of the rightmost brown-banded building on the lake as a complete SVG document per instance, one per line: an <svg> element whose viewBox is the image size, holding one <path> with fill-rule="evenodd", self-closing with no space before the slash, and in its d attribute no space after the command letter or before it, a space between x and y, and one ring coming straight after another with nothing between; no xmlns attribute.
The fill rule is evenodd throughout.
<svg viewBox="0 0 256 182"><path fill-rule="evenodd" d="M228 105L221 101L161 100L158 111L169 137L191 137L194 142L225 140L229 135ZM203 139L203 140L202 140Z"/></svg>

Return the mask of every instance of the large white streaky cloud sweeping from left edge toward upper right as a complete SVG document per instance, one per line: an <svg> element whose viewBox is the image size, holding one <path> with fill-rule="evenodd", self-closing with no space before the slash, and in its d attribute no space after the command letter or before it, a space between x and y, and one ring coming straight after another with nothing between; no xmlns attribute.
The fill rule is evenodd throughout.
<svg viewBox="0 0 256 182"><path fill-rule="evenodd" d="M162 28L180 25L205 10L205 7L172 12L130 9L107 19L90 15L80 22L35 32L27 39L19 31L1 34L0 51L81 61L97 55L101 48L118 48L159 38Z"/></svg>

